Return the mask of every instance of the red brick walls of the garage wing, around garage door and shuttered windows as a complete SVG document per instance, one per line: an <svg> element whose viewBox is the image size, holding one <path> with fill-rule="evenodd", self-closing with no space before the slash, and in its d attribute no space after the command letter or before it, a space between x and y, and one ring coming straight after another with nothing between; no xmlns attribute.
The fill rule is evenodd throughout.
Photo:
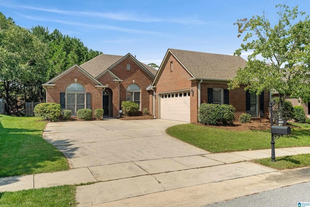
<svg viewBox="0 0 310 207"><path fill-rule="evenodd" d="M171 62L173 68L171 71ZM198 81L190 81L191 76L186 69L178 63L178 61L170 56L167 64L164 65L163 71L159 80L156 83L156 100L155 100L155 116L158 117L158 94L179 90L193 90L190 94L190 122L198 122ZM202 82L201 84L201 103L208 102L208 88L223 88L227 89L226 83L210 83ZM235 116L239 117L241 113L246 113L246 92L245 86L229 91L229 104L236 108ZM260 101L260 100L259 100ZM268 113L269 94L264 92L264 115ZM260 103L260 102L259 102Z"/></svg>

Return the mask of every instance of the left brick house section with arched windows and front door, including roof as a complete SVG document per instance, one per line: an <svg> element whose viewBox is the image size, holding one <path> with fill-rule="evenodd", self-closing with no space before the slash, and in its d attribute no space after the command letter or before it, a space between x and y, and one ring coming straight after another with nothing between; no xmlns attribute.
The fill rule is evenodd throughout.
<svg viewBox="0 0 310 207"><path fill-rule="evenodd" d="M59 103L76 116L78 109L104 109L104 116L119 115L122 101L139 104L140 111L150 107L146 88L157 70L140 63L130 53L125 56L101 54L73 65L43 84L46 101ZM152 104L152 103L151 103Z"/></svg>

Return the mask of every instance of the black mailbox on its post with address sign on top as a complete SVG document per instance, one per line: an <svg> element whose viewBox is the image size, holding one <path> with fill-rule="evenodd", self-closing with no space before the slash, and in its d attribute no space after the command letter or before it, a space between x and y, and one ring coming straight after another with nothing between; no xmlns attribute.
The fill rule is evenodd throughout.
<svg viewBox="0 0 310 207"><path fill-rule="evenodd" d="M273 126L273 114L272 114L272 106L275 103L273 101L269 102L270 109L270 125L271 125L271 161L276 161L276 153L275 153L275 136L279 137L282 135L291 134L291 127L284 126Z"/></svg>

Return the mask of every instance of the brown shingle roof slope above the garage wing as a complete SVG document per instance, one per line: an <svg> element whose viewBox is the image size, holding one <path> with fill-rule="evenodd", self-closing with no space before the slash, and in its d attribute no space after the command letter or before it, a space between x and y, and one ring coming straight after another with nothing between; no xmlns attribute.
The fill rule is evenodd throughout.
<svg viewBox="0 0 310 207"><path fill-rule="evenodd" d="M194 78L227 80L236 76L247 62L241 57L180 49L169 49Z"/></svg>

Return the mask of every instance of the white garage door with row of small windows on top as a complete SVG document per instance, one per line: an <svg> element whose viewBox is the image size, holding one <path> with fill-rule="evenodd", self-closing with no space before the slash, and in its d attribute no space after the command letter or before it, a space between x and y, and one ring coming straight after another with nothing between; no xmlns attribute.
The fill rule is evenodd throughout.
<svg viewBox="0 0 310 207"><path fill-rule="evenodd" d="M190 93L160 95L160 118L190 122Z"/></svg>

